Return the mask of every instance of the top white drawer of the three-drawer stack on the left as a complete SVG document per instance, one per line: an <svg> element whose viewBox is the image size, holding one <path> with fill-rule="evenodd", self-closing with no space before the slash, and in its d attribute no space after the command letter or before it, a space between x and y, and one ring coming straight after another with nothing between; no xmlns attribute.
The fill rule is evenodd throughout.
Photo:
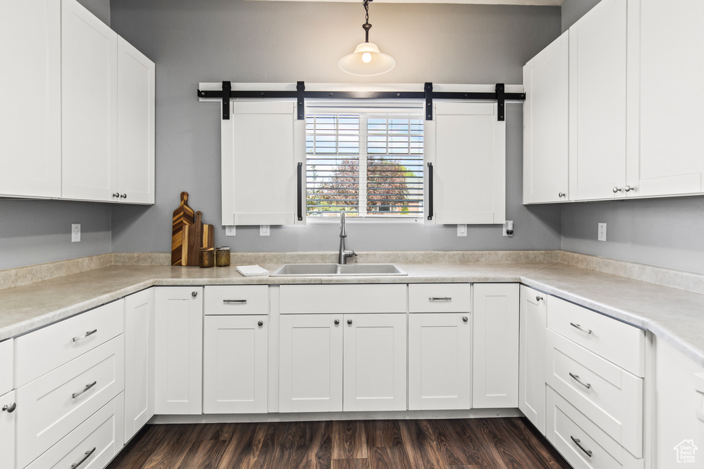
<svg viewBox="0 0 704 469"><path fill-rule="evenodd" d="M105 304L15 339L15 387L122 334L123 300Z"/></svg>

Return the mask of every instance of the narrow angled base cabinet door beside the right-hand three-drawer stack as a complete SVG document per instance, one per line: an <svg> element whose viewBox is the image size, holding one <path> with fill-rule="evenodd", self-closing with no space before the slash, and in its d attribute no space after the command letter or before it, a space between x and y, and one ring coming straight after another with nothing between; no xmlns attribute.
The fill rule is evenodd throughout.
<svg viewBox="0 0 704 469"><path fill-rule="evenodd" d="M546 297L521 285L518 408L545 435Z"/></svg>

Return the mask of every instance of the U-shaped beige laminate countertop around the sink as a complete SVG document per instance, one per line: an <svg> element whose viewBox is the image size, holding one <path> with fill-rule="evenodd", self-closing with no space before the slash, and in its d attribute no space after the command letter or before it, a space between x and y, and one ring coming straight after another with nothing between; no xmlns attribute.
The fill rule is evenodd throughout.
<svg viewBox="0 0 704 469"><path fill-rule="evenodd" d="M704 365L704 295L567 264L398 264L408 276L243 277L232 267L108 266L0 290L0 340L153 285L524 283L640 328ZM263 265L273 271L277 265Z"/></svg>

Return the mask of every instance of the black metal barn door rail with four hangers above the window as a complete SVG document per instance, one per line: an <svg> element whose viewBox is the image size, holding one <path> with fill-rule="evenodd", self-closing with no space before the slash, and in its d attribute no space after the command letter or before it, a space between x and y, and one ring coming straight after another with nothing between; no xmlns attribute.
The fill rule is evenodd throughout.
<svg viewBox="0 0 704 469"><path fill-rule="evenodd" d="M494 93L433 91L433 84L426 83L424 91L306 91L306 84L296 82L296 91L236 91L231 82L222 82L222 91L198 90L199 98L217 98L222 100L222 119L230 120L230 100L237 98L295 98L298 120L306 118L306 98L334 99L422 99L425 100L425 118L433 119L434 99L472 99L496 101L498 103L498 120L505 120L505 101L524 101L525 93L506 93L503 83L496 84Z"/></svg>

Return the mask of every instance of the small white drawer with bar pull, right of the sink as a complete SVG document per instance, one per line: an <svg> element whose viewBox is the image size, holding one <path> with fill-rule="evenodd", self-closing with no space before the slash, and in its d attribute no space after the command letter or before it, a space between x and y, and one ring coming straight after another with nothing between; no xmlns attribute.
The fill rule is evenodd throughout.
<svg viewBox="0 0 704 469"><path fill-rule="evenodd" d="M408 308L412 313L459 313L471 311L469 283L411 283Z"/></svg>

